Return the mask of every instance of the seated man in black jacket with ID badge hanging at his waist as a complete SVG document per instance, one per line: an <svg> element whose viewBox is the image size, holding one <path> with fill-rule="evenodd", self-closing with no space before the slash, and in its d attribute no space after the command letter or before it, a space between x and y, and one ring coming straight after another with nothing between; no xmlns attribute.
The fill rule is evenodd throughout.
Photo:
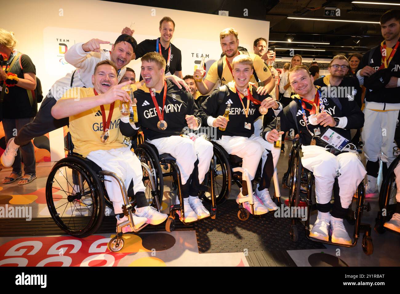
<svg viewBox="0 0 400 294"><path fill-rule="evenodd" d="M289 81L297 95L278 117L281 134L290 128L298 130L303 152L302 165L314 173L318 217L310 237L328 241L328 234L331 233L333 243L352 244L343 219L366 170L356 151L346 146L351 138L350 129L362 128L364 114L354 99L322 96L305 66L292 68ZM264 130L263 137L268 142L279 138L275 124L273 121ZM336 177L339 199L335 199L330 213Z"/></svg>

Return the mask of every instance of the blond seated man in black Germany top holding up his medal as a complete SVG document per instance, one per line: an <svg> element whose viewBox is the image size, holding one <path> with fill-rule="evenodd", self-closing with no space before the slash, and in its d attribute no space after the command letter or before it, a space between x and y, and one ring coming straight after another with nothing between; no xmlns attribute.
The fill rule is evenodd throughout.
<svg viewBox="0 0 400 294"><path fill-rule="evenodd" d="M243 158L242 168L248 171L250 180L254 179L258 164L262 159L262 180L254 197L254 213L260 215L267 213L268 210L277 209L270 198L268 188L280 150L275 149L262 137L254 135L254 121L263 114L271 117L274 112L278 114L282 106L266 92L263 95L257 94L256 87L250 83L250 76L253 74L252 66L253 61L249 56L245 54L236 56L232 61L234 80L215 90L202 103L200 114L204 124L217 127L216 143L229 154ZM220 94L223 94L223 99L220 98ZM227 104L230 104L229 120L223 116ZM274 112L268 111L268 108L272 108ZM220 128L225 128L225 130L222 131ZM247 183L246 180L242 180L238 198L247 195ZM244 202L243 206L252 213L249 202Z"/></svg>

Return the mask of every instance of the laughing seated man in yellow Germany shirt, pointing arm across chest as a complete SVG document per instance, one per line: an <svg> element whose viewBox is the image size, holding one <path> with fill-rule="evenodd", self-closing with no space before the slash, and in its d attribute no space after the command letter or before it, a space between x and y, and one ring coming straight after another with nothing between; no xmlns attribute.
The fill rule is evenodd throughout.
<svg viewBox="0 0 400 294"><path fill-rule="evenodd" d="M142 167L134 153L124 145L120 132L121 121L129 118L121 116L119 106L130 98L123 86L118 85L117 68L110 60L99 62L92 76L94 88L72 88L57 101L51 113L56 119L69 117L69 131L74 143L74 152L96 163L103 170L115 172L128 187L133 180L136 198L136 215L133 215L135 228L144 223L156 225L168 217L148 205L142 182ZM133 90L136 86L131 85ZM104 186L114 206L117 225L128 220L122 213L122 193L115 178L104 176ZM123 232L132 231L125 226Z"/></svg>

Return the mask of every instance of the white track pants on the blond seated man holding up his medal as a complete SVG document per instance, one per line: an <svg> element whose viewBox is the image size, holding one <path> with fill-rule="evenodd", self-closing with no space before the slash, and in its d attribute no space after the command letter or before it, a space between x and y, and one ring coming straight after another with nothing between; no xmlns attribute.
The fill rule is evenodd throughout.
<svg viewBox="0 0 400 294"><path fill-rule="evenodd" d="M215 141L220 144L229 154L237 155L243 158L242 167L246 168L250 175L250 180L256 176L258 163L262 158L262 170L267 156L272 152L274 167L278 163L280 149L274 148L274 145L267 142L260 136L254 134L250 138L242 136L222 136L220 140Z"/></svg>

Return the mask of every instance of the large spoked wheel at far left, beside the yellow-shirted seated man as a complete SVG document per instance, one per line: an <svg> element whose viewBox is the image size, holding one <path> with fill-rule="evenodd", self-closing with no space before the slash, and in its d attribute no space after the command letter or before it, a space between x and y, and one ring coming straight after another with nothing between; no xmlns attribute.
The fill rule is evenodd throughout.
<svg viewBox="0 0 400 294"><path fill-rule="evenodd" d="M50 171L46 202L56 224L75 237L96 232L104 217L102 184L84 160L76 156L63 158Z"/></svg>

